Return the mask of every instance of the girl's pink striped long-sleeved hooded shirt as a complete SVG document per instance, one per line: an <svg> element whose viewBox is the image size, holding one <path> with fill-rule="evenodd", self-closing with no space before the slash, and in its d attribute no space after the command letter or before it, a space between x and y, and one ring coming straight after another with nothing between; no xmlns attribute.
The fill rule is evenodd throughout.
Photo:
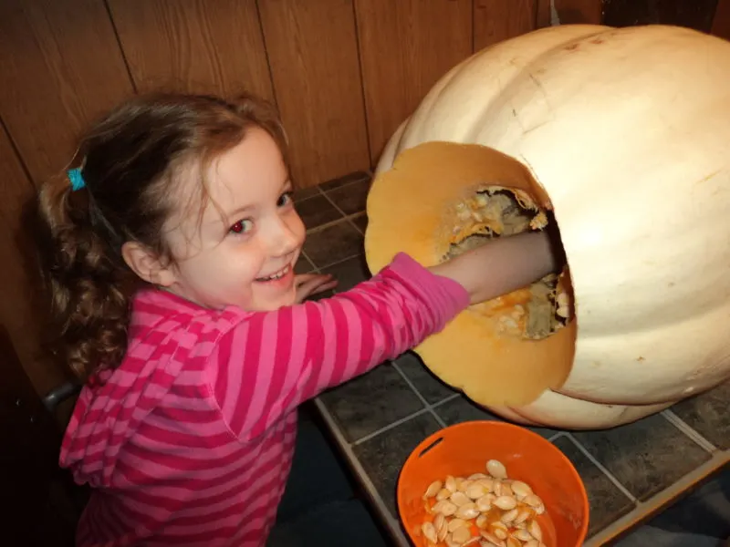
<svg viewBox="0 0 730 547"><path fill-rule="evenodd" d="M468 305L405 254L354 289L250 313L135 299L130 344L84 387L60 455L95 487L79 546L259 546L291 465L296 408L398 356Z"/></svg>

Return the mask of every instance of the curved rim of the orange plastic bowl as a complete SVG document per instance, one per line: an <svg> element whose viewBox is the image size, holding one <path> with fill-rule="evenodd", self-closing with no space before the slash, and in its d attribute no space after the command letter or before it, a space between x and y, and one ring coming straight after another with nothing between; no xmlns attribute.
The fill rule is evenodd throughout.
<svg viewBox="0 0 730 547"><path fill-rule="evenodd" d="M423 439L418 445L412 449L411 453L408 455L408 458L403 462L403 465L401 466L401 470L398 473L398 482L396 484L396 506L398 509L398 521L401 524L401 527L405 529L406 534L408 535L411 542L414 542L411 532L407 530L407 526L405 526L405 522L403 520L403 513L404 509L402 507L401 502L401 484L403 479L403 470L406 469L406 466L413 460L419 457L423 449L426 449L430 447L441 435L443 435L443 431L446 430L453 430L458 428L466 428L466 427L487 427L487 428L503 428L503 429L513 429L515 431L518 431L520 435L527 435L533 436L534 438L538 439L538 442L543 443L544 446L546 446L546 449L552 450L558 455L558 459L561 459L563 463L568 468L570 474L573 476L574 479L577 480L580 493L581 493L581 500L582 500L582 510L584 514L586 515L586 518L583 519L583 522L580 525L579 528L579 542L577 545L582 545L583 542L586 540L586 536L588 535L588 525L590 521L590 506L588 501L588 491L586 490L586 485L583 483L583 480L580 478L580 474L578 470L576 470L575 466L573 465L573 462L568 459L568 456L566 456L561 449L558 449L555 444L553 444L548 439L545 439L542 435L538 435L535 431L531 431L528 428L524 426L520 426L517 424L508 423L505 421L496 421L491 419L473 419L473 420L467 420L464 422L459 422L457 424L453 424L451 426L446 426L445 428L440 428L437 431L434 431L431 435Z"/></svg>

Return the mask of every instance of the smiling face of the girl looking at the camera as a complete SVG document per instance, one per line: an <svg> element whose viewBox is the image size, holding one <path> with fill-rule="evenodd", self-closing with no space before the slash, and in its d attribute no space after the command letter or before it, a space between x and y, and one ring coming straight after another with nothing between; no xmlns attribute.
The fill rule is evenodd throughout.
<svg viewBox="0 0 730 547"><path fill-rule="evenodd" d="M168 289L211 308L271 311L295 302L304 224L276 142L252 128L205 172L210 200L169 222L175 259Z"/></svg>

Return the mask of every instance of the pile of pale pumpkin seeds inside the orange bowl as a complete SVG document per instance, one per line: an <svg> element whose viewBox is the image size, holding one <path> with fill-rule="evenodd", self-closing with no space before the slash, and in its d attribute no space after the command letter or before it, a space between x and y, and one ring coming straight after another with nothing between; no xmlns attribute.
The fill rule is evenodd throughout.
<svg viewBox="0 0 730 547"><path fill-rule="evenodd" d="M545 504L497 459L486 462L486 474L434 480L423 502L427 547L547 547L537 522Z"/></svg>

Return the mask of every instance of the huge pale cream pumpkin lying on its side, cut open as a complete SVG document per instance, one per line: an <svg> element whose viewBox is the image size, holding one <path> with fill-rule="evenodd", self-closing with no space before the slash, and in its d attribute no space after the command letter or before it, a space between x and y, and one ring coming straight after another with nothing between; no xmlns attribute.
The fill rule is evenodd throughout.
<svg viewBox="0 0 730 547"><path fill-rule="evenodd" d="M555 26L464 60L381 156L370 270L398 251L431 265L471 232L503 232L504 197L485 209L500 188L528 213L513 232L554 214L568 321L530 339L500 328L529 291L474 306L416 348L438 377L561 428L626 423L730 377L730 44L673 26Z"/></svg>

